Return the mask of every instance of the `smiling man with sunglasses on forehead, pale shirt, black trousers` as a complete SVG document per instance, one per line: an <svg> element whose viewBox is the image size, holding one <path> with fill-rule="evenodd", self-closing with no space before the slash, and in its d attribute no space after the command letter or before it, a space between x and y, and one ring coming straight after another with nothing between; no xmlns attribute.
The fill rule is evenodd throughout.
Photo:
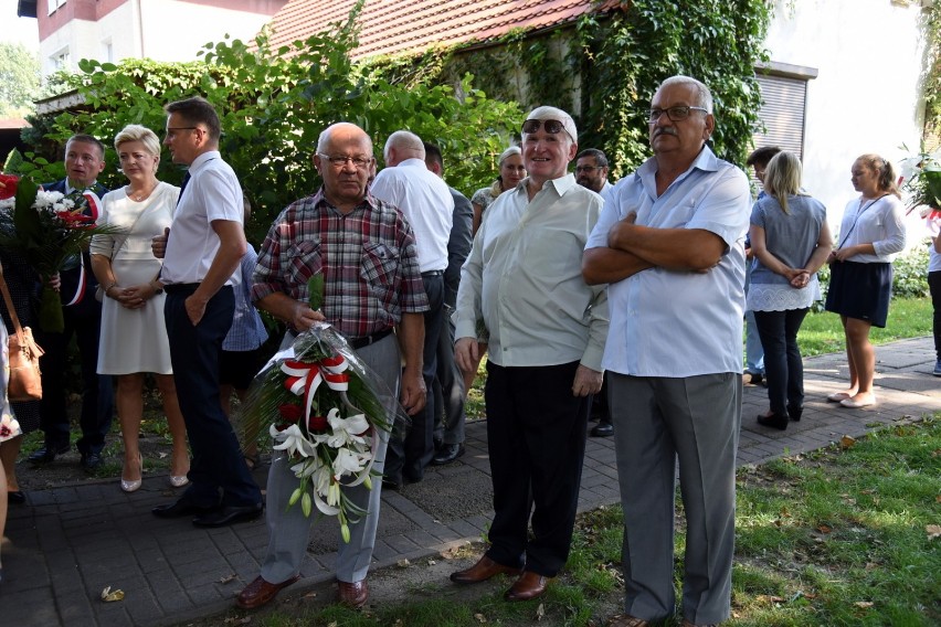
<svg viewBox="0 0 941 627"><path fill-rule="evenodd" d="M522 124L529 176L487 208L457 291L454 355L462 369L477 363L477 321L489 331L484 394L494 521L486 554L451 580L519 575L509 601L542 595L568 560L589 396L601 390L607 297L603 285L585 285L581 263L602 200L568 172L577 152L569 114L530 111Z"/></svg>

